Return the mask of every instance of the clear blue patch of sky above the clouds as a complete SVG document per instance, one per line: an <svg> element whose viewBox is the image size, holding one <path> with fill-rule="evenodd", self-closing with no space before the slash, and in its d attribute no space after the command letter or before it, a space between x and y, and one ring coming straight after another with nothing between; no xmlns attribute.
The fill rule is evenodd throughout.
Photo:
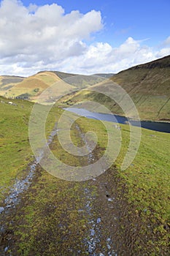
<svg viewBox="0 0 170 256"><path fill-rule="evenodd" d="M66 13L79 10L82 13L90 10L101 11L104 29L96 39L112 45L119 45L127 37L148 39L148 45L158 45L170 34L170 1L169 0L92 0L92 1L23 1L37 5L59 4Z"/></svg>

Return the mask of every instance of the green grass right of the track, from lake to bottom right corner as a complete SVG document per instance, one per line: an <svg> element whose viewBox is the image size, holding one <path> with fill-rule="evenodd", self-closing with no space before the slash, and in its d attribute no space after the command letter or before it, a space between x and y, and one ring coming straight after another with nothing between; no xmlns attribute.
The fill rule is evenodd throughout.
<svg viewBox="0 0 170 256"><path fill-rule="evenodd" d="M100 134L98 145L104 146L107 138L106 129L100 122L82 118L79 120L79 125L84 132L97 131ZM126 188L127 194L121 197L126 198L129 205L132 206L128 218L131 219L131 215L133 216L135 213L139 222L143 223L139 233L149 237L148 227L151 227L152 236L147 239L145 248L150 247L151 244L155 246L155 249L150 250L150 255L154 250L152 255L160 255L160 253L164 255L165 252L161 252L161 248L163 246L168 248L170 239L170 135L142 129L142 140L136 158L128 169L122 171L120 165L128 150L130 132L127 125L121 125L121 127L122 146L115 162L117 176L120 177L117 189L122 190L121 184ZM115 180L112 182L114 187ZM135 223L134 220L133 222ZM141 247L140 242L137 247ZM142 253L144 253L144 247Z"/></svg>

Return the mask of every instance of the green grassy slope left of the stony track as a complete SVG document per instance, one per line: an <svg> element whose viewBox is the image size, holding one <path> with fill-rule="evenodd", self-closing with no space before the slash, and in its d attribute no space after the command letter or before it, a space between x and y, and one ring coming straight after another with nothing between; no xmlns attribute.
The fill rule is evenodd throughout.
<svg viewBox="0 0 170 256"><path fill-rule="evenodd" d="M12 99L14 105L9 105L8 102L8 99L0 97L1 201L15 179L26 175L28 164L34 159L28 138L28 121L33 103L18 99ZM47 137L53 130L54 123L55 114L52 112L47 118Z"/></svg>

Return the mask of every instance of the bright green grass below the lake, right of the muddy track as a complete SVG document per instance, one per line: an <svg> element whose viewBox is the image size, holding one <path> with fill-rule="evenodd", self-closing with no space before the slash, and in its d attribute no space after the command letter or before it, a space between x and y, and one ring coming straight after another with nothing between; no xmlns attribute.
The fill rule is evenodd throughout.
<svg viewBox="0 0 170 256"><path fill-rule="evenodd" d="M87 130L97 131L98 145L105 147L107 134L103 124L87 118L80 119L79 124L85 132ZM121 127L122 145L116 165L120 176L128 184L129 200L140 211L152 209L155 217L161 219L162 222L169 222L170 135L168 133L142 129L142 140L136 158L128 169L121 171L120 165L128 150L130 138L128 126L121 125ZM136 129L138 128L136 127Z"/></svg>

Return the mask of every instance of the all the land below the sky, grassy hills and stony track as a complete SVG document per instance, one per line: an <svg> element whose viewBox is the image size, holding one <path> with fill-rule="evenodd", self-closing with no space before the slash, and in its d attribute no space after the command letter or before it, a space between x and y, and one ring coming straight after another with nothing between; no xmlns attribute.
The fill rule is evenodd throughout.
<svg viewBox="0 0 170 256"><path fill-rule="evenodd" d="M89 113L78 116L63 109L88 109L88 99L123 116L115 102L93 92L101 86L112 95L114 88L107 88L107 84L117 83L131 96L142 120L164 121L169 126L169 60L167 56L125 70L109 77L109 83L106 74L94 78L45 71L29 78L1 76L1 255L169 255L170 133L141 128L136 156L123 169L126 153L136 147L132 144L130 150L129 143L139 127L131 130L126 122L103 120L95 113L102 112L96 111L96 105L91 112L94 119ZM57 85L56 94L50 91L52 84ZM29 96L20 97L22 94ZM35 106L39 113L34 113ZM42 160L54 169L50 173L51 169L43 169L41 159L35 159L31 148L31 116L38 124L46 112L46 146L66 165L68 176L63 179L63 165L53 165L45 148L40 148ZM71 127L62 123L63 113L73 120ZM59 133L64 137L66 131L73 143L69 148L75 146L77 154L66 151L60 141ZM94 148L94 137L86 137L89 131L96 134ZM107 151L108 134L114 138L109 154L117 157L98 175L93 164ZM35 130L36 137L39 131ZM87 154L81 155L83 147ZM87 176L76 181L76 168L88 165ZM75 173L69 173L69 166Z"/></svg>

